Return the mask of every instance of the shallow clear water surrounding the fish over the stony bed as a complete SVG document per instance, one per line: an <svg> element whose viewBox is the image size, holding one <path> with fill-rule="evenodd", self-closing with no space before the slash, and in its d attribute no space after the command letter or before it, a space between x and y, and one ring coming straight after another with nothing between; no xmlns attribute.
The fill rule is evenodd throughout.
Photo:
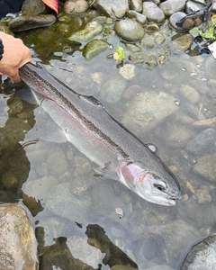
<svg viewBox="0 0 216 270"><path fill-rule="evenodd" d="M30 33L31 37L34 31ZM106 58L119 43L116 37L108 40L113 49L92 60L73 47L72 53L60 49L48 56L34 47L31 38L24 34L22 38L31 46L35 61L77 93L94 95L120 122L131 99L142 92L174 96L175 112L157 125L143 131L131 122L125 125L145 143L157 146L157 155L175 171L184 193L174 207L160 206L144 201L118 182L95 176L90 160L68 142L57 141L49 115L40 106L16 97L14 85L5 82L0 92L0 131L10 143L5 145L0 173L11 172L17 183L2 180L1 201L19 201L29 210L39 240L40 269L71 269L71 254L76 269L84 269L77 259L89 266L85 269L178 269L193 244L215 232L216 184L193 171L200 157L215 151L215 144L210 142L210 148L200 152L186 148L188 141L208 128L195 128L193 122L215 116L216 95L211 85L215 60L173 51L164 66L138 64L137 75L127 82L121 99L109 103L100 94L100 79L98 83L96 78L104 83L119 73L117 63ZM130 52L124 49L127 56ZM130 63L127 58L126 63ZM139 90L127 95L131 85L138 85ZM185 94L184 85L192 86L198 97ZM45 140L40 139L41 132ZM203 190L205 197L210 196L209 202L199 201L198 193ZM64 260L59 250L67 254Z"/></svg>

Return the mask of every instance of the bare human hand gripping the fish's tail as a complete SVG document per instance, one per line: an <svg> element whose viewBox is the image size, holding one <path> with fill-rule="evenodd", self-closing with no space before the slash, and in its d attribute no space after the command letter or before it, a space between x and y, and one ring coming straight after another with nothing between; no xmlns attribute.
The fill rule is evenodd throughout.
<svg viewBox="0 0 216 270"><path fill-rule="evenodd" d="M23 44L23 40L0 31L0 39L4 45L3 58L0 61L0 73L9 76L13 82L20 80L19 68L32 62L31 51Z"/></svg>

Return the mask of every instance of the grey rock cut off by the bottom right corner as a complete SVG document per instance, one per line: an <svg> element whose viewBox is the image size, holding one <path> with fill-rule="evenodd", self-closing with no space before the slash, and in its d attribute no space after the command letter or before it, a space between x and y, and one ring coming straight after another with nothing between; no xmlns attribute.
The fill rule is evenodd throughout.
<svg viewBox="0 0 216 270"><path fill-rule="evenodd" d="M216 266L216 235L194 245L184 258L181 270L213 270Z"/></svg>

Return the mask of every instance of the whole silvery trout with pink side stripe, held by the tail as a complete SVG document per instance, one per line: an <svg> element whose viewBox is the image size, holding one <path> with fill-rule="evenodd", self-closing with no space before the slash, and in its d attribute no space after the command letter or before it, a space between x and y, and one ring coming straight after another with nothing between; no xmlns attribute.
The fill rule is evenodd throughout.
<svg viewBox="0 0 216 270"><path fill-rule="evenodd" d="M39 64L25 64L19 73L33 92L42 94L40 106L65 139L95 164L97 175L120 181L148 202L173 206L182 198L177 178L163 161L97 99L77 94Z"/></svg>

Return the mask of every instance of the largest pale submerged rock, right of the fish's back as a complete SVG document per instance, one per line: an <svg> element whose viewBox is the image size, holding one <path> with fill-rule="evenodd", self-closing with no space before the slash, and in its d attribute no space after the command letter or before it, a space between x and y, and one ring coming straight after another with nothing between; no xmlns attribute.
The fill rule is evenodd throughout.
<svg viewBox="0 0 216 270"><path fill-rule="evenodd" d="M143 134L176 110L174 96L164 92L146 91L131 100L122 117L122 123L136 134Z"/></svg>

